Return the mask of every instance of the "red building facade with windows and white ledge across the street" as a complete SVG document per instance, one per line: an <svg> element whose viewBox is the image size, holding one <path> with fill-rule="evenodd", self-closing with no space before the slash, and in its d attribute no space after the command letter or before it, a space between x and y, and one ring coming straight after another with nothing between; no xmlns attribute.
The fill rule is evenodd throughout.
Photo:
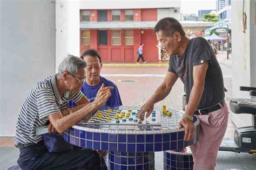
<svg viewBox="0 0 256 170"><path fill-rule="evenodd" d="M157 9L80 10L80 53L93 48L105 62L135 62L143 43L145 60L158 61L157 15Z"/></svg>

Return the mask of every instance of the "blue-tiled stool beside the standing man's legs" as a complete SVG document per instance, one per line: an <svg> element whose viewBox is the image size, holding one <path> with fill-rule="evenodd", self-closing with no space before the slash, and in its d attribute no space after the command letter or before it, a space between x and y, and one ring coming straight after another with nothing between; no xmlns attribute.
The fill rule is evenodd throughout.
<svg viewBox="0 0 256 170"><path fill-rule="evenodd" d="M193 170L193 157L189 147L164 152L164 169Z"/></svg>

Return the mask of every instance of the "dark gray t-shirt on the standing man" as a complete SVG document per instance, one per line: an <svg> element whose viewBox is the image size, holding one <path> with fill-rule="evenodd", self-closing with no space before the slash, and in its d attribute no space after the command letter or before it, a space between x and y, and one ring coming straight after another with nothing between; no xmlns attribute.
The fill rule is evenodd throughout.
<svg viewBox="0 0 256 170"><path fill-rule="evenodd" d="M187 103L193 87L193 67L209 62L205 77L205 87L201 101L197 109L211 107L221 102L224 97L223 75L213 49L207 40L202 37L192 38L188 42L182 56L171 55L169 61L169 72L175 73L184 83L184 90L187 96Z"/></svg>

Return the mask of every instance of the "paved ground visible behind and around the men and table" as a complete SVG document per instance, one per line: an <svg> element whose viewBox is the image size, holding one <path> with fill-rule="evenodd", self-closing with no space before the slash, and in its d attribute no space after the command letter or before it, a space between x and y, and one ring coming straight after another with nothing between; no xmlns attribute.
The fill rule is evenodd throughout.
<svg viewBox="0 0 256 170"><path fill-rule="evenodd" d="M218 57L221 69L224 75L224 84L227 88L226 101L232 97L232 70L231 61L226 60L224 57ZM103 66L102 74L157 74L164 75L167 67L109 67ZM163 76L156 77L134 77L134 76L108 76L117 84L122 102L127 105L139 105L146 102L152 95L154 90L163 81ZM136 82L120 82L118 80L137 80ZM132 87L132 88L131 88ZM127 91L127 89L131 89ZM183 83L178 80L174 85L171 94L166 97L164 101L157 103L157 106L167 105L170 108L177 110L182 109L182 95L184 94ZM136 97L134 97L136 96ZM231 116L231 115L230 115ZM225 138L233 138L235 126L228 120L228 126L225 133ZM0 170L5 169L11 165L16 164L19 151L13 147L14 138L1 138L0 137ZM163 152L155 153L155 166L156 169L163 169ZM215 169L256 169L256 154L247 153L233 153L223 152L218 153L218 162Z"/></svg>

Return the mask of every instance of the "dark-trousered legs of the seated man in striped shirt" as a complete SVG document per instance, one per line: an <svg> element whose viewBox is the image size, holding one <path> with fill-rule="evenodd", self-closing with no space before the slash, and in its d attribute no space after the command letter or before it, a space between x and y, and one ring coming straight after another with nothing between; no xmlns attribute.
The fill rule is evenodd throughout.
<svg viewBox="0 0 256 170"><path fill-rule="evenodd" d="M21 150L18 164L22 169L100 169L100 155L93 150L49 153L47 148L29 146Z"/></svg>

